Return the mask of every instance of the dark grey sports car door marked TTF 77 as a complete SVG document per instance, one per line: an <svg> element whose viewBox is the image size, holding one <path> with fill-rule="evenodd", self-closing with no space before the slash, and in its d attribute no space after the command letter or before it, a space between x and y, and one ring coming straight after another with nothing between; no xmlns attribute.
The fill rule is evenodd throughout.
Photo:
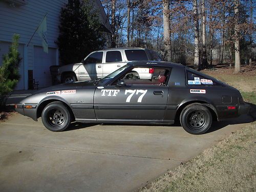
<svg viewBox="0 0 256 192"><path fill-rule="evenodd" d="M128 75L131 76L131 72L127 72ZM117 87L114 82L95 90L94 108L98 120L164 119L168 100L167 83L160 83L159 79L129 79L125 75L123 81L123 87Z"/></svg>

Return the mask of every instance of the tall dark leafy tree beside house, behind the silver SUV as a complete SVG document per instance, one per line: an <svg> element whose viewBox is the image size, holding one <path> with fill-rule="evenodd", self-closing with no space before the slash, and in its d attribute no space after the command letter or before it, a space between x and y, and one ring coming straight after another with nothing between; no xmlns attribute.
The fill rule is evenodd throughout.
<svg viewBox="0 0 256 192"><path fill-rule="evenodd" d="M57 45L62 64L80 62L90 52L102 49L105 41L101 31L97 10L91 1L69 1L60 14Z"/></svg>

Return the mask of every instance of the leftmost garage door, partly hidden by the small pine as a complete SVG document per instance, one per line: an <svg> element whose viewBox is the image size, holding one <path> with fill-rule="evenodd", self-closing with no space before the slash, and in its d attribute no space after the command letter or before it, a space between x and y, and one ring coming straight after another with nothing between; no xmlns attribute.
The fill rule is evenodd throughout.
<svg viewBox="0 0 256 192"><path fill-rule="evenodd" d="M8 53L10 46L11 46L10 42L2 42L2 41L0 42L0 66L2 66L2 63L3 63L2 56ZM24 90L24 46L19 45L18 51L19 51L19 57L22 58L22 60L19 62L20 78L14 90Z"/></svg>

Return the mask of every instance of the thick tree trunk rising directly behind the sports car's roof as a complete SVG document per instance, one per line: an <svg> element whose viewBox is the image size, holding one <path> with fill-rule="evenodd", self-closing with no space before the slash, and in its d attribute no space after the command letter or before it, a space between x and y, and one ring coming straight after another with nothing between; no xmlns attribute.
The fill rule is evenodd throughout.
<svg viewBox="0 0 256 192"><path fill-rule="evenodd" d="M164 36L164 56L170 61L170 22L169 22L169 0L163 1L163 36Z"/></svg>

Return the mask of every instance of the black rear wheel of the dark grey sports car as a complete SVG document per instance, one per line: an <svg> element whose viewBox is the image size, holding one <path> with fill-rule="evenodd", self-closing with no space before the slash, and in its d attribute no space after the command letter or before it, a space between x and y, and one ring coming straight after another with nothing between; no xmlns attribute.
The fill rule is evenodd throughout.
<svg viewBox="0 0 256 192"><path fill-rule="evenodd" d="M200 103L187 105L180 114L183 129L194 135L207 132L210 129L212 116L206 106Z"/></svg>

